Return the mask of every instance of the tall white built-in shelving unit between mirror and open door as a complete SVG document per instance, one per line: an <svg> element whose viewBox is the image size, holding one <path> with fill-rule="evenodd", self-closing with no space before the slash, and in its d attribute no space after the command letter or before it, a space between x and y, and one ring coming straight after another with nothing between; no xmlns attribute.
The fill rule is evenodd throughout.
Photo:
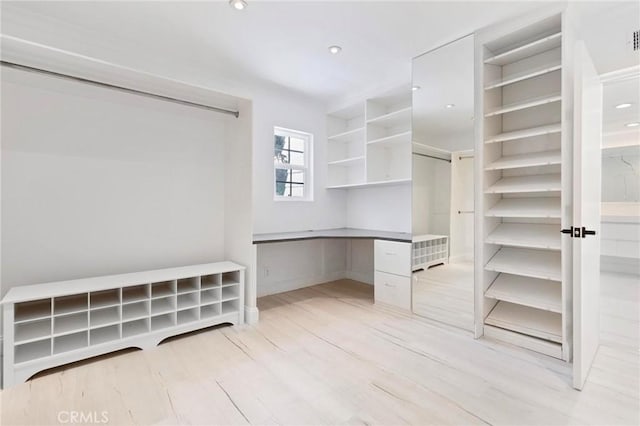
<svg viewBox="0 0 640 426"><path fill-rule="evenodd" d="M563 15L477 43L476 336L569 360Z"/></svg>

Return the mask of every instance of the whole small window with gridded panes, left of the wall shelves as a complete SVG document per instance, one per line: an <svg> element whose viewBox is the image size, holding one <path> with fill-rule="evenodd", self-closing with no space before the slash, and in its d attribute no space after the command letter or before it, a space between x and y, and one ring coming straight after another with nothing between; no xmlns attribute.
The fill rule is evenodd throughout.
<svg viewBox="0 0 640 426"><path fill-rule="evenodd" d="M274 199L313 200L313 135L280 127L273 133Z"/></svg>

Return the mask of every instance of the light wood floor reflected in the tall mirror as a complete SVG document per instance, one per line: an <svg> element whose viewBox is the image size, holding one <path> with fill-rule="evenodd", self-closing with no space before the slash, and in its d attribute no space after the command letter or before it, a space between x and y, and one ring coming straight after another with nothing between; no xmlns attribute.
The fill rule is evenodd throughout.
<svg viewBox="0 0 640 426"><path fill-rule="evenodd" d="M473 332L473 262L413 274L413 312Z"/></svg>

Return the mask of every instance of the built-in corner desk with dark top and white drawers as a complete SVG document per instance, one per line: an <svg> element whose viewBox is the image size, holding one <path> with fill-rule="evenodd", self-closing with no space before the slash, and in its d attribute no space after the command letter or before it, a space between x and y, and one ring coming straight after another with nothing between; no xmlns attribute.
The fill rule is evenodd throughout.
<svg viewBox="0 0 640 426"><path fill-rule="evenodd" d="M254 234L253 244L313 239L374 240L374 299L376 303L411 310L411 234L372 229L336 228Z"/></svg>

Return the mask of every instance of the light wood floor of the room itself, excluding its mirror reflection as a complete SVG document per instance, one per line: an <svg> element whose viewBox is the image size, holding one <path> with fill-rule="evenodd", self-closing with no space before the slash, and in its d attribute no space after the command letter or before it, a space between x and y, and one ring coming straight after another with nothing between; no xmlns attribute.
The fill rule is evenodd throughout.
<svg viewBox="0 0 640 426"><path fill-rule="evenodd" d="M604 281L604 345L582 392L561 361L374 306L370 286L340 281L260 299L256 326L5 390L1 420L56 424L76 410L106 411L112 425L637 425L640 286Z"/></svg>

